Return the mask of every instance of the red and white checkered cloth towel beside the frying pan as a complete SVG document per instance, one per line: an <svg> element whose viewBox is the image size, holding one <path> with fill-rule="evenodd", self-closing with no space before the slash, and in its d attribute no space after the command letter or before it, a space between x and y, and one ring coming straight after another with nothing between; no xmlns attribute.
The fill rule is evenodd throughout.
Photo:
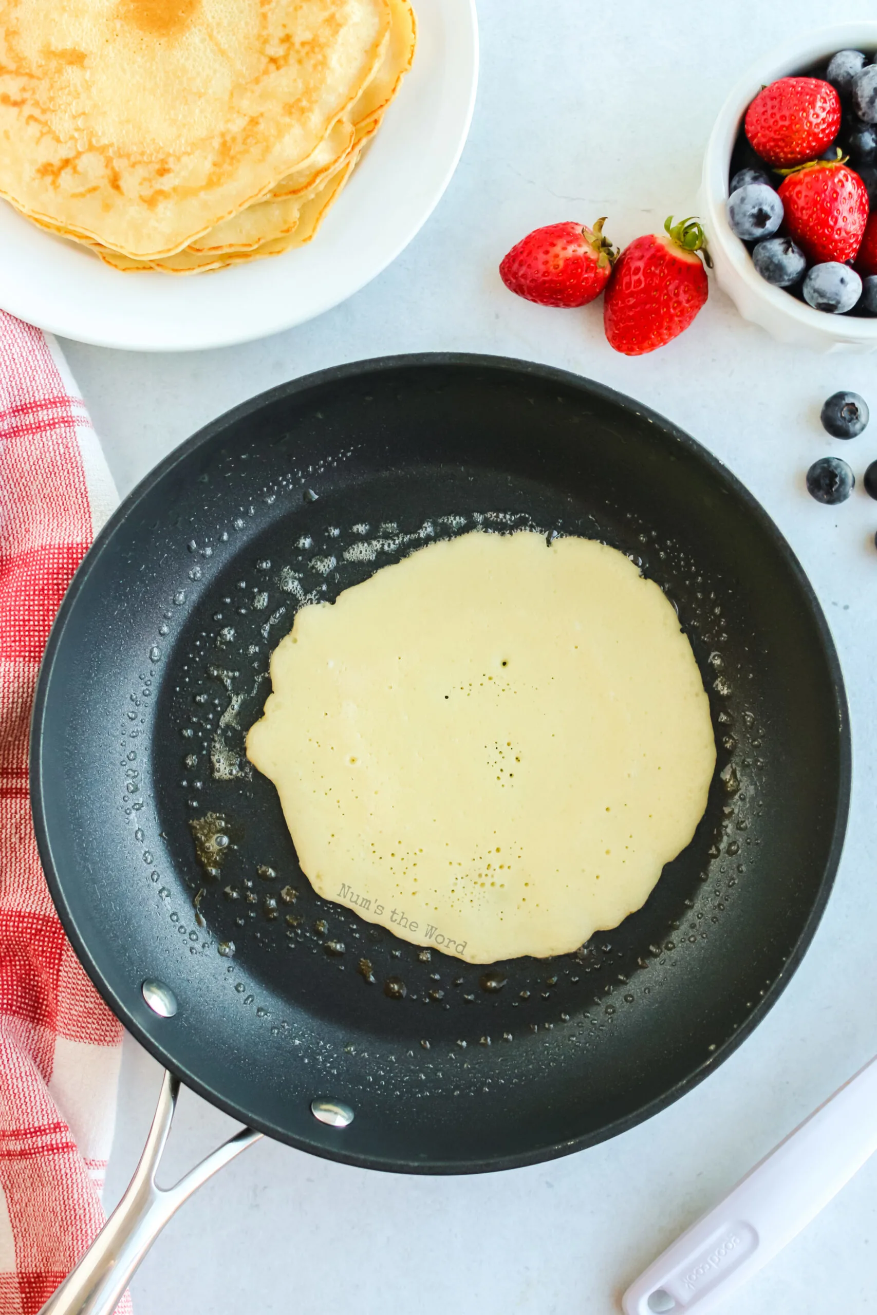
<svg viewBox="0 0 877 1315"><path fill-rule="evenodd" d="M49 629L114 502L57 345L0 312L0 1315L34 1315L104 1220L122 1030L49 898L28 730Z"/></svg>

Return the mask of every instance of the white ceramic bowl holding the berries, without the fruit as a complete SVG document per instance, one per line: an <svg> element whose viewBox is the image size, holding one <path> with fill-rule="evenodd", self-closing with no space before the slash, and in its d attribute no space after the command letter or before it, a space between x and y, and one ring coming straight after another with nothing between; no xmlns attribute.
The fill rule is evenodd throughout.
<svg viewBox="0 0 877 1315"><path fill-rule="evenodd" d="M727 221L731 151L749 101L765 83L801 72L836 50L877 50L877 22L845 22L790 41L765 55L732 89L706 146L701 183L701 220L715 279L744 320L761 325L781 342L815 351L876 351L877 318L832 316L774 288L756 274L752 258Z"/></svg>

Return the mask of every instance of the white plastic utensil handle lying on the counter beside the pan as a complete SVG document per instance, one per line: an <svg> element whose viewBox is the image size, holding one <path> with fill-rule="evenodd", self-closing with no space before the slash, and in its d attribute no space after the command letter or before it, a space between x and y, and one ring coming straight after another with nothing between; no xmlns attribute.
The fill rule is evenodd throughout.
<svg viewBox="0 0 877 1315"><path fill-rule="evenodd" d="M706 1315L792 1241L877 1151L877 1059L630 1285L626 1315Z"/></svg>

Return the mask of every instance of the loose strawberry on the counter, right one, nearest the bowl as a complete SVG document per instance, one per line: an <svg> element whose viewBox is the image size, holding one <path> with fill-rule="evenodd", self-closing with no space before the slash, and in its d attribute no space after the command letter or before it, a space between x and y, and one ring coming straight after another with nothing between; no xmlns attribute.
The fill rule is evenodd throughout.
<svg viewBox="0 0 877 1315"><path fill-rule="evenodd" d="M609 346L642 356L688 329L706 301L709 285L698 251L709 259L697 220L664 225L625 247L604 301Z"/></svg>

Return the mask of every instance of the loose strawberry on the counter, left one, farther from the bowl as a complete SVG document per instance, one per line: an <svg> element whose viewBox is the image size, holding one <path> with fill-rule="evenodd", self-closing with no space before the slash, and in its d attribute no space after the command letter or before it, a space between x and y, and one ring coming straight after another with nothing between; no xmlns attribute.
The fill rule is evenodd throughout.
<svg viewBox="0 0 877 1315"><path fill-rule="evenodd" d="M548 224L513 246L500 266L506 288L540 306L586 306L609 283L615 247L604 237L605 218L593 229Z"/></svg>

